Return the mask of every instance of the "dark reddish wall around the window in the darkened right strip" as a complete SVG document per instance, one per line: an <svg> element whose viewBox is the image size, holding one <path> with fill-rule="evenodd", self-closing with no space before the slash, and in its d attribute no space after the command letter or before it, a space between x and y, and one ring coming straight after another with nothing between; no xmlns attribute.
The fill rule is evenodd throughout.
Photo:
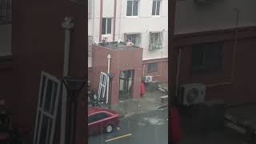
<svg viewBox="0 0 256 144"><path fill-rule="evenodd" d="M242 31L244 34L242 34ZM183 38L186 45L178 46L180 50L179 54L179 67L178 70L178 84L183 85L186 83L204 83L206 84L206 99L221 99L225 102L238 103L238 102L256 102L254 96L254 81L255 71L254 66L250 65L254 62L254 53L256 50L256 31L250 28L241 30L238 35L236 58L233 61L233 50L234 50L234 39L228 38L227 35L233 35L230 32L223 32L219 30L213 33L198 33L197 36L191 40L203 43L203 42L215 42L216 39L212 38L214 34L219 34L218 38L224 42L223 46L223 66L222 71L218 73L206 73L206 74L192 74L191 73L191 44L186 43L186 38ZM250 38L242 38L242 35ZM187 38L192 38L191 35L187 34ZM221 40L222 39L222 40ZM175 39L174 39L175 41ZM183 42L182 38L177 39L177 42ZM189 44L190 43L190 44ZM234 81L232 82L232 62L235 62L234 69ZM226 83L226 84L225 84ZM230 83L230 84L228 84Z"/></svg>

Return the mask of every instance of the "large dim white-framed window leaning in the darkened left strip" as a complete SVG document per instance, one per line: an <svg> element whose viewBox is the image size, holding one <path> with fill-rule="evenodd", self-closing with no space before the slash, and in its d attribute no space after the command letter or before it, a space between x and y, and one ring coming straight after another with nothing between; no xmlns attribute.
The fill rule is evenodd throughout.
<svg viewBox="0 0 256 144"><path fill-rule="evenodd" d="M52 144L58 112L61 82L42 71L38 110L34 129L34 144Z"/></svg>

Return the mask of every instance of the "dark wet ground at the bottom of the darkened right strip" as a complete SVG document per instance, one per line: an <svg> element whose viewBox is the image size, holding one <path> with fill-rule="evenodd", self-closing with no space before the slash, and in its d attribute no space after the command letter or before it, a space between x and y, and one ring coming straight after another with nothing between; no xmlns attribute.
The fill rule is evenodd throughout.
<svg viewBox="0 0 256 144"><path fill-rule="evenodd" d="M245 109L245 108L243 108ZM249 110L236 108L227 110L228 114L232 114L237 118L251 120L254 113L249 114ZM250 110L251 111L251 110ZM232 112L232 113L231 113ZM253 115L252 115L253 114ZM242 117L246 115L245 117ZM213 121L204 121L196 113L182 114L182 142L179 144L255 144L256 142L248 142L246 134L241 134L238 131L223 125L213 125Z"/></svg>

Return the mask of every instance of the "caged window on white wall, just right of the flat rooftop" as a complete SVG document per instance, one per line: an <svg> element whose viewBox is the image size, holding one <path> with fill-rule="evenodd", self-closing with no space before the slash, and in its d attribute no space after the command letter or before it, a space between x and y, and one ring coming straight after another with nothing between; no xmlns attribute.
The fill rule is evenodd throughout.
<svg viewBox="0 0 256 144"><path fill-rule="evenodd" d="M162 32L150 33L150 49L158 50L162 49Z"/></svg>

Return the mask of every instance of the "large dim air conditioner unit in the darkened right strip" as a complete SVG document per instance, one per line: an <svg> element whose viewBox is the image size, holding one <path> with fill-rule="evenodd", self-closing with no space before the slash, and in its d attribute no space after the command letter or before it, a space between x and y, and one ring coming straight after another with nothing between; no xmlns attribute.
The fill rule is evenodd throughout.
<svg viewBox="0 0 256 144"><path fill-rule="evenodd" d="M191 106L205 101L206 86L201 83L186 84L179 87L179 102Z"/></svg>

